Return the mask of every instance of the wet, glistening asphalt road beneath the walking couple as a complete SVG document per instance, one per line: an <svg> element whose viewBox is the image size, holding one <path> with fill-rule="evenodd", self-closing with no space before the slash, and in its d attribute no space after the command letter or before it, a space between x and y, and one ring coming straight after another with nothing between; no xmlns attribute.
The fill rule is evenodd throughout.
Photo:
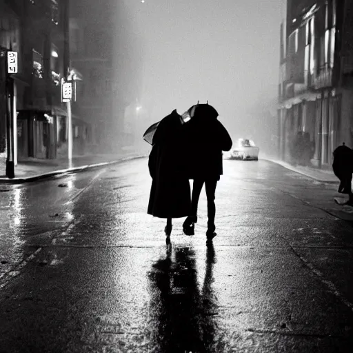
<svg viewBox="0 0 353 353"><path fill-rule="evenodd" d="M196 234L174 219L166 247L147 159L0 185L0 353L352 352L336 185L267 161L224 173L208 247L204 190Z"/></svg>

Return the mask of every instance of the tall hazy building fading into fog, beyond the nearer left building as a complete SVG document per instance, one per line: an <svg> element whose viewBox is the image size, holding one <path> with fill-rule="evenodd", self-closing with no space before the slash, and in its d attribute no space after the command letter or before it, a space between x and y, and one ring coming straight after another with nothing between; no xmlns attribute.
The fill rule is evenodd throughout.
<svg viewBox="0 0 353 353"><path fill-rule="evenodd" d="M134 41L120 0L70 1L70 62L83 75L73 112L90 123L91 150L115 152L125 107L139 97Z"/></svg>

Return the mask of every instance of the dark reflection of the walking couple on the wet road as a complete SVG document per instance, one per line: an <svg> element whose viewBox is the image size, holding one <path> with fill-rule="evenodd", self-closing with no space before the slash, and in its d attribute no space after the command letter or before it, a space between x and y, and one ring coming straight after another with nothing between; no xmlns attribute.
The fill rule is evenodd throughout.
<svg viewBox="0 0 353 353"><path fill-rule="evenodd" d="M216 352L216 298L212 292L213 245L208 246L206 274L199 288L196 254L192 248L173 247L152 265L150 313L153 347L159 352Z"/></svg>

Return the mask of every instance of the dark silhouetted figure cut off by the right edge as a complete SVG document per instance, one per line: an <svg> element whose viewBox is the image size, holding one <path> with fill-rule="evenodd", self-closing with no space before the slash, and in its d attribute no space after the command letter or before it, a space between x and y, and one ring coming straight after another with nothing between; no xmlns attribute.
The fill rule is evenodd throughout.
<svg viewBox="0 0 353 353"><path fill-rule="evenodd" d="M334 161L332 163L334 174L340 180L339 192L348 194L347 205L353 206L352 194L352 174L353 174L353 150L345 145L339 146L334 150Z"/></svg>

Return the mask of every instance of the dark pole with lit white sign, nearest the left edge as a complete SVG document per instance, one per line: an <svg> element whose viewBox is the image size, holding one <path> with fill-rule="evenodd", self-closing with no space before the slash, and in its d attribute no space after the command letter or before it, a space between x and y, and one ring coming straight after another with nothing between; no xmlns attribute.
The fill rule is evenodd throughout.
<svg viewBox="0 0 353 353"><path fill-rule="evenodd" d="M6 55L6 136L7 136L7 158L6 177L14 178L14 79L10 74L17 74L18 60L17 52L8 50Z"/></svg>

